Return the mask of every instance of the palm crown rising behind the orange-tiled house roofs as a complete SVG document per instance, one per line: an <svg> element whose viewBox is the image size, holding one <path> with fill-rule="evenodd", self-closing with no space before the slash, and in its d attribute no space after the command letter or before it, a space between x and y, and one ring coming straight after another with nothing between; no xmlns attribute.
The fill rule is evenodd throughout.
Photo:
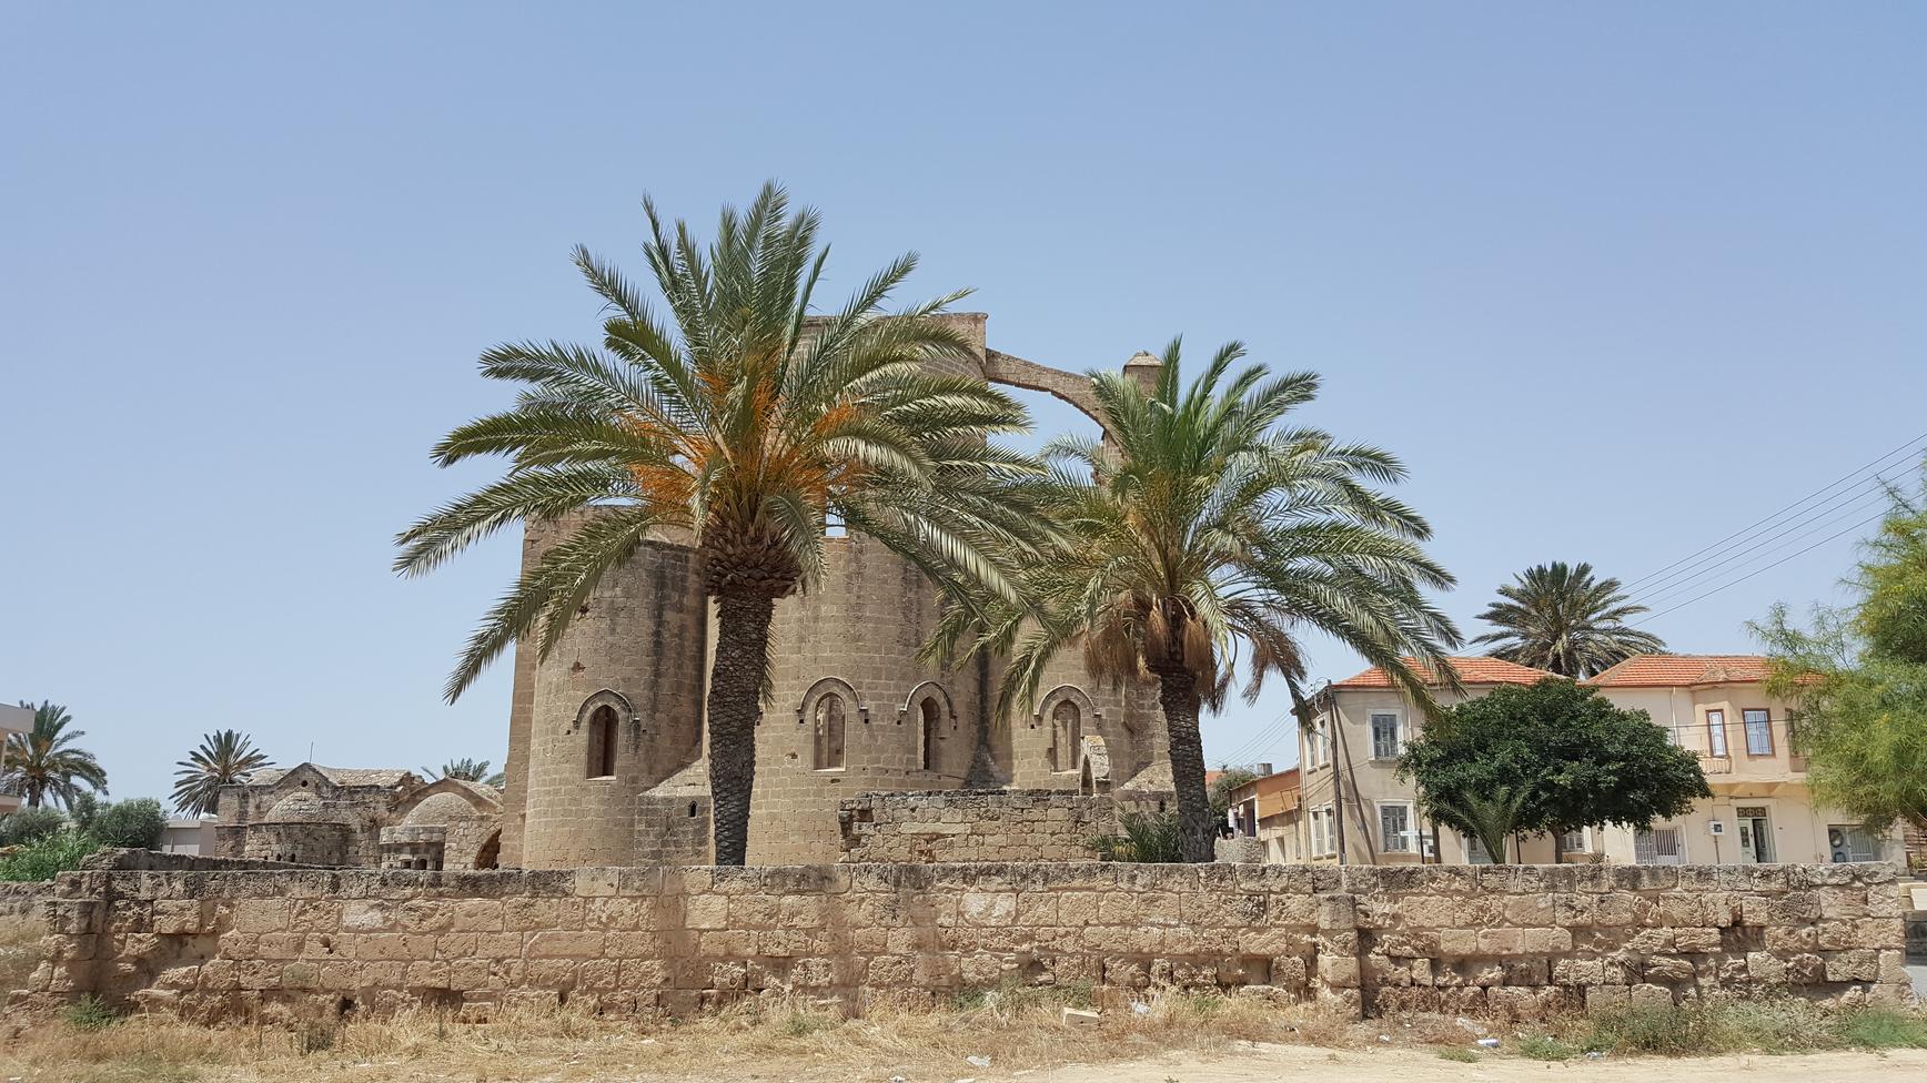
<svg viewBox="0 0 1927 1083"><path fill-rule="evenodd" d="M1534 565L1499 588L1478 615L1495 630L1472 640L1491 657L1571 676L1592 676L1632 655L1661 653L1665 640L1626 624L1646 613L1628 601L1619 580L1597 580L1592 565Z"/></svg>

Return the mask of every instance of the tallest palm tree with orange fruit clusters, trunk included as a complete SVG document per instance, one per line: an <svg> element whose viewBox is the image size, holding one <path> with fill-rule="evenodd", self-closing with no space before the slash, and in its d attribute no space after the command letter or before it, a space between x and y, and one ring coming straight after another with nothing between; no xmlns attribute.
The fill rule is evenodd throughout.
<svg viewBox="0 0 1927 1083"><path fill-rule="evenodd" d="M998 489L1041 466L987 441L1021 432L1023 409L981 380L938 376L969 357L935 316L952 293L888 314L913 254L811 318L829 249L817 214L765 185L725 208L701 249L644 200L649 272L671 322L615 268L576 249L607 304L601 345L509 343L482 374L520 383L515 409L468 422L434 451L449 466L509 455L505 476L401 534L395 567L426 572L522 520L594 509L489 611L455 673L453 700L516 640L547 655L595 584L659 530L694 536L717 605L709 673L715 859L740 865L755 780L755 719L769 682L779 597L823 568L827 516L906 555L938 582L1010 586L989 559L1010 551L1027 511Z"/></svg>

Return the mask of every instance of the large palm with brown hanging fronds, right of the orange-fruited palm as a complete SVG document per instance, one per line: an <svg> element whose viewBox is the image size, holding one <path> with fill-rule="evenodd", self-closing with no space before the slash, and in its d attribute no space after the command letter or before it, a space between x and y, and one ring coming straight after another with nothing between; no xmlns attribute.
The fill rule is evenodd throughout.
<svg viewBox="0 0 1927 1083"><path fill-rule="evenodd" d="M1154 389L1095 374L1104 437L1052 441L1052 474L1031 486L1062 534L1023 565L1025 603L985 601L985 621L954 607L933 644L1010 655L1000 715L1033 700L1073 644L1093 674L1154 682L1189 861L1212 858L1214 834L1199 713L1222 705L1239 651L1247 700L1276 673L1303 701L1305 630L1349 644L1420 703L1420 669L1455 680L1441 663L1459 632L1420 594L1453 580L1418 545L1426 522L1374 489L1405 470L1376 447L1285 428L1318 378L1256 364L1227 378L1243 353L1226 345L1189 385L1175 341Z"/></svg>

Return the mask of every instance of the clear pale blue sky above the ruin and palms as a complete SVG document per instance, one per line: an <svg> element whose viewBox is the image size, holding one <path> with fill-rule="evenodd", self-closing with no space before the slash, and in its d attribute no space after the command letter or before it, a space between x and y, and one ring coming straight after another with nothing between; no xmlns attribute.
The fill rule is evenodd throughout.
<svg viewBox="0 0 1927 1083"><path fill-rule="evenodd" d="M836 295L917 249L1019 357L1322 372L1476 632L1530 563L1630 580L1927 432L1923 54L1902 4L12 4L0 696L67 703L121 798L220 726L501 761L507 667L437 690L515 542L387 570L486 476L426 451L505 401L484 347L594 331L570 245L634 262L646 191L707 227L765 177ZM1651 626L1750 649L1850 557Z"/></svg>

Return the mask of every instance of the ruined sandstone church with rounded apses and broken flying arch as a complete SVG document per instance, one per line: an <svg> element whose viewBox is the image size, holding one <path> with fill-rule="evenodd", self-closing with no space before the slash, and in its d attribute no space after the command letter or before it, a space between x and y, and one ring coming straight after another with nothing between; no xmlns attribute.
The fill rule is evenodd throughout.
<svg viewBox="0 0 1927 1083"><path fill-rule="evenodd" d="M985 349L983 314L948 320L975 343L973 362L952 370L1093 412L1083 376ZM1154 378L1156 360L1139 355L1125 370ZM532 526L522 567L570 526ZM545 661L516 651L503 865L709 859L703 701L715 628L688 542L653 540L605 578ZM752 863L834 861L836 806L859 794L1170 788L1154 694L1098 684L1081 659L1060 657L1035 703L992 719L994 663L917 661L937 617L935 588L861 536L827 538L823 578L777 603Z"/></svg>

